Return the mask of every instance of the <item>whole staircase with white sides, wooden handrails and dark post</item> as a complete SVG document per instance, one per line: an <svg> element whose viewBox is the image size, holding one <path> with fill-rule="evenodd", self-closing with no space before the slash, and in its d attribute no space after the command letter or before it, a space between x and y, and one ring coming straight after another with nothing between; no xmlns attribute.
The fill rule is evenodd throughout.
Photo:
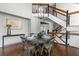
<svg viewBox="0 0 79 59"><path fill-rule="evenodd" d="M35 4L35 5L38 5L38 4ZM41 5L41 6L43 6L43 8L44 8L44 5ZM53 31L57 33L55 35L56 41L59 42L59 43L68 45L69 44L68 43L68 40L69 40L69 38L68 38L69 32L77 32L77 31L79 31L78 30L79 29L79 26L70 26L70 23L69 23L70 22L70 14L68 13L68 11L64 11L64 10L61 10L61 9L58 9L56 7L49 6L49 5L47 5L46 9L47 9L47 11L46 12L42 12L41 14L44 17L47 17L50 20L52 20L52 21L56 22L57 24L61 25L61 28L58 29L58 27L57 27L56 29L53 29ZM50 11L52 11L52 12L50 12ZM60 14L62 16L65 16L66 19L65 20L62 20L62 19L58 18L57 17L57 14ZM42 17L39 14L39 12L32 12L32 15L35 16L35 17ZM61 30L62 28L64 28L64 29Z"/></svg>

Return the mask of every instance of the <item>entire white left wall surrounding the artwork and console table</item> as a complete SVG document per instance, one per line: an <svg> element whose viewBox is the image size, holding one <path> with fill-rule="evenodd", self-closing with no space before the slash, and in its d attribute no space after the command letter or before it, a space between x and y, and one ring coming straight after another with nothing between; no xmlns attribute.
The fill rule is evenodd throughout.
<svg viewBox="0 0 79 59"><path fill-rule="evenodd" d="M0 12L21 16L31 19L32 15L32 3L0 3ZM0 47L2 46L2 36L6 35L6 16L13 17L11 15L5 15L0 13ZM30 33L31 22L27 19L14 17L22 21L22 29L12 30L12 34L26 34ZM5 45L21 42L19 37L5 38Z"/></svg>

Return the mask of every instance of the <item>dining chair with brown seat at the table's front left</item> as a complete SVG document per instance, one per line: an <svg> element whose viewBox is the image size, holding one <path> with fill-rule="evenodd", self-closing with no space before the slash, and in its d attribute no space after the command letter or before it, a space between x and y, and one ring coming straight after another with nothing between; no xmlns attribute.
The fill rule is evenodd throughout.
<svg viewBox="0 0 79 59"><path fill-rule="evenodd" d="M32 55L32 51L35 51L34 48L35 46L31 44L31 42L29 40L27 40L27 37L21 37L22 39L22 45L23 45L23 51L24 51L24 55Z"/></svg>

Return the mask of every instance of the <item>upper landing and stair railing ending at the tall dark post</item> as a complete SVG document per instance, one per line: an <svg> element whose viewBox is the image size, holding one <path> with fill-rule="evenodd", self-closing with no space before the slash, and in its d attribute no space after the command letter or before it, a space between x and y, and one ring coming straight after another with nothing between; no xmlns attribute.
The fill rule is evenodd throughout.
<svg viewBox="0 0 79 59"><path fill-rule="evenodd" d="M32 13L39 13L38 10L39 10L39 6L42 6L42 7L45 7L47 6L46 8L46 11L44 11L45 13L50 13L50 11L52 12L51 14L54 15L54 13L59 13L63 16L66 16L66 11L62 10L62 9L59 9L59 8L56 8L54 6L50 6L49 4L47 3L32 3L32 7L33 9L35 8L36 11L32 10Z"/></svg>

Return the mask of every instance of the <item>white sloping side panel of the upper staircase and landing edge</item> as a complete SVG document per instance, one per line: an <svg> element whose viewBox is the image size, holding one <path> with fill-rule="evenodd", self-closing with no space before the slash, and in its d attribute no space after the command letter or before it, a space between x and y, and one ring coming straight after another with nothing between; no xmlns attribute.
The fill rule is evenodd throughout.
<svg viewBox="0 0 79 59"><path fill-rule="evenodd" d="M32 15L35 16L35 17L38 17L38 13L33 13ZM39 17L41 17L41 15L39 15ZM59 25L63 26L64 28L66 28L66 21L63 21L63 20L59 19L58 17L53 16L51 14L49 14L49 15L48 14L44 14L44 17L47 17L50 20L58 23Z"/></svg>

